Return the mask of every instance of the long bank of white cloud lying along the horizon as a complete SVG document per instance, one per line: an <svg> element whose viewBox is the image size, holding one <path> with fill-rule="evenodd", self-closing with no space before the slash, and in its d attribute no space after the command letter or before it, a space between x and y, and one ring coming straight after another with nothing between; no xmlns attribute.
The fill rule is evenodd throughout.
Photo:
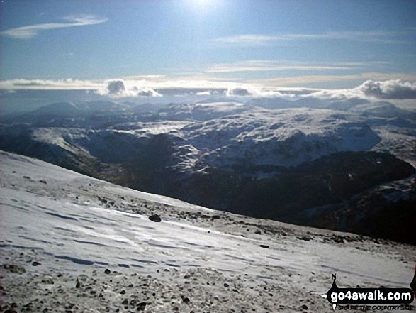
<svg viewBox="0 0 416 313"><path fill-rule="evenodd" d="M386 79L387 78L387 79ZM388 79L390 78L390 79ZM400 79L399 79L400 78ZM347 89L299 87L317 82L364 82ZM223 93L227 97L318 97L331 99L416 99L416 75L364 73L360 75L298 76L246 82L218 82L201 77L156 80L12 79L0 81L0 90L86 90L104 97L174 97ZM298 87L285 87L298 86Z"/></svg>

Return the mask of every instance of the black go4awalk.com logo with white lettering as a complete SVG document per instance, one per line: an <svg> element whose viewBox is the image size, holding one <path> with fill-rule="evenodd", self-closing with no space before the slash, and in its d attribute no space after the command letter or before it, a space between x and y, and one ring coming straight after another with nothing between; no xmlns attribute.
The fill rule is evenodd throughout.
<svg viewBox="0 0 416 313"><path fill-rule="evenodd" d="M411 288L339 288L337 276L332 274L332 287L325 297L333 309L345 310L413 310L410 305L415 300L416 292L416 268L415 275L410 283Z"/></svg>

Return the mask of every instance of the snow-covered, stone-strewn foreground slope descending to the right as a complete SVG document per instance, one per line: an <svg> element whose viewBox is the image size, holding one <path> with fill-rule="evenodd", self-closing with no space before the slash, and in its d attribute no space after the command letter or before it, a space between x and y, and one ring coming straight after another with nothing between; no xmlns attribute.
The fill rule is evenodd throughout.
<svg viewBox="0 0 416 313"><path fill-rule="evenodd" d="M0 165L3 310L332 312L331 273L339 287L407 287L416 263L414 246L215 212L21 155Z"/></svg>

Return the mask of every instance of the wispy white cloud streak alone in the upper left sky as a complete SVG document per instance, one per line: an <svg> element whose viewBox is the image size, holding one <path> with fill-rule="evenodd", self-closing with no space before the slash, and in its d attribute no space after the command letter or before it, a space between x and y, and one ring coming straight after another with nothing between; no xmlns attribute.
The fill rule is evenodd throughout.
<svg viewBox="0 0 416 313"><path fill-rule="evenodd" d="M100 18L94 15L77 15L65 16L61 18L66 23L41 23L29 26L21 26L17 28L10 28L6 31L0 32L1 35L6 35L16 39L30 39L38 35L40 31L50 31L58 28L69 28L77 26L88 26L108 21L107 18Z"/></svg>

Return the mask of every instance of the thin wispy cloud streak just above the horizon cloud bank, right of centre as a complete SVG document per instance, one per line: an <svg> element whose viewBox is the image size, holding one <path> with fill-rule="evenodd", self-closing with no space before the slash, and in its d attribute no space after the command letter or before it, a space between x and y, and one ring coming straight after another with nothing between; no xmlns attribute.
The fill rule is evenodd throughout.
<svg viewBox="0 0 416 313"><path fill-rule="evenodd" d="M225 64L215 64L206 70L213 73L230 72L272 72L284 70L299 71L325 71L325 70L353 70L366 65L381 65L386 62L339 62L339 63L308 63L308 62L287 62L274 60L247 60Z"/></svg>

